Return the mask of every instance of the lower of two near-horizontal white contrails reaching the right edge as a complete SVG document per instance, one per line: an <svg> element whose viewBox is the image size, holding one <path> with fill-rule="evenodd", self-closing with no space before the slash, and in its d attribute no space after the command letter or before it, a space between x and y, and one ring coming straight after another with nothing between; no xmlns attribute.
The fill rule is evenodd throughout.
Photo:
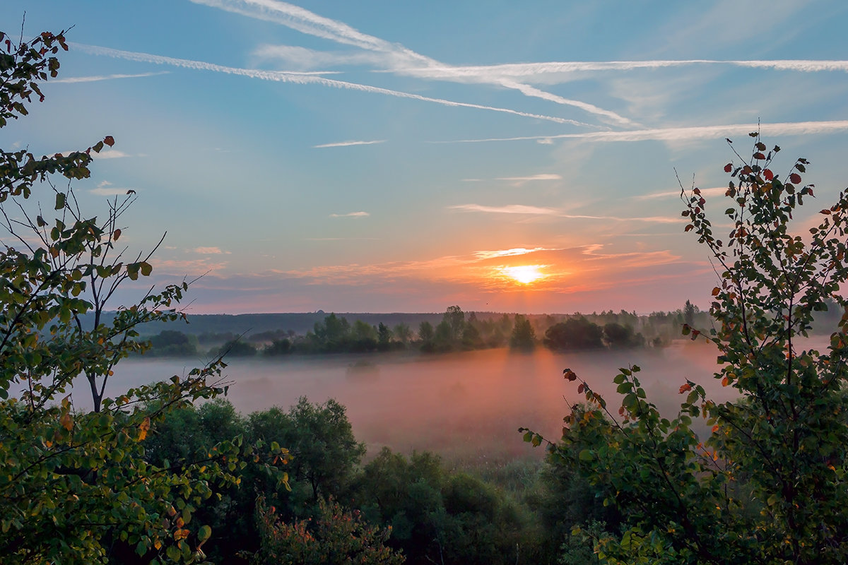
<svg viewBox="0 0 848 565"><path fill-rule="evenodd" d="M747 136L759 130L764 136L806 136L848 130L848 120L821 122L783 122L778 124L695 125L690 127L654 128L650 130L594 131L557 136L489 137L431 143L481 143L486 141L533 141L554 139L583 139L586 141L693 141L719 137Z"/></svg>

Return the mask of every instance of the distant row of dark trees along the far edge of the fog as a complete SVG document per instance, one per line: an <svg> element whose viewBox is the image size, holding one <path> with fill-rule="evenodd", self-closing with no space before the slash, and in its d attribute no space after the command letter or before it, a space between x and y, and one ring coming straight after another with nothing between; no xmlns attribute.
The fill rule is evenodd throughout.
<svg viewBox="0 0 848 565"><path fill-rule="evenodd" d="M341 314L321 313L321 319L302 333L276 329L246 331L243 335L234 331L204 331L191 335L165 330L148 336L152 345L148 355L280 357L390 351L444 353L506 346L530 351L538 345L555 351L661 347L679 339L683 324L700 324L701 327L711 324L709 315L689 301L673 312L648 315L625 310L591 314L466 313L459 306L450 306L438 315L406 314L411 324L400 321L393 325L388 320L398 319L399 315L383 315L387 321L374 320L371 324L359 318L351 322ZM373 319L378 314L367 316ZM416 319L420 319L417 324L414 323Z"/></svg>

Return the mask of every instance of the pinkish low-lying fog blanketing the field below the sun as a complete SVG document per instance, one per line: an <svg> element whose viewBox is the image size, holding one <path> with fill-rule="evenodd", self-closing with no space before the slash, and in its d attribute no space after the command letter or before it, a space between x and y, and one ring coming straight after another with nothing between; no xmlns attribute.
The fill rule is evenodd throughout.
<svg viewBox="0 0 848 565"><path fill-rule="evenodd" d="M579 402L577 382L562 378L572 368L605 396L616 413L612 378L617 368L637 364L648 397L669 416L677 413L680 385L689 378L717 401L734 396L711 379L716 352L689 341L658 350L524 354L506 349L419 355L411 353L233 358L227 398L243 414L272 406L287 408L299 396L312 402L335 398L348 409L354 434L375 453L382 446L409 453L438 451L448 459L540 457L517 433L520 426L559 439L566 402ZM198 364L202 364L198 360ZM115 368L107 394L173 374L187 374L187 359L128 359ZM86 388L75 388L84 407ZM701 429L706 429L701 426Z"/></svg>

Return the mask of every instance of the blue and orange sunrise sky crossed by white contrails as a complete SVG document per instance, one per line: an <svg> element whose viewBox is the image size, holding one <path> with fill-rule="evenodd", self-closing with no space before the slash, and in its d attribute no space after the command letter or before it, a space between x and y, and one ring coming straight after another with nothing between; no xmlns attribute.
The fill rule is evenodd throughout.
<svg viewBox="0 0 848 565"><path fill-rule="evenodd" d="M114 136L75 193L95 215L136 191L121 241L165 234L151 280L203 275L188 313L706 307L680 186L721 229L725 138L750 154L759 129L776 171L811 161L799 232L848 183L841 0L4 0L0 18L71 28L0 147Z"/></svg>

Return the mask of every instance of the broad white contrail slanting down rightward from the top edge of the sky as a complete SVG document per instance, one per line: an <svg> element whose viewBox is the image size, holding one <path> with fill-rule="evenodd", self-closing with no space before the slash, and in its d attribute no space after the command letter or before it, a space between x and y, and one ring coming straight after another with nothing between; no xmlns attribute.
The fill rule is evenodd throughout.
<svg viewBox="0 0 848 565"><path fill-rule="evenodd" d="M589 114L599 116L601 119L612 121L619 125L633 125L630 119L622 115L616 114L611 110L599 108L589 102L572 100L570 98L560 97L550 92L540 91L530 85L516 82L516 80L504 75L479 74L479 75L458 75L451 72L450 65L440 63L436 59L429 58L421 53L399 45L393 42L387 42L379 37L370 36L362 33L360 30L344 24L343 22L325 18L305 8L294 6L293 4L278 2L276 0L192 0L194 3L205 4L207 6L220 8L234 14L241 14L254 19L262 19L271 21L280 25L285 25L293 30L298 30L301 33L311 36L321 37L333 42L359 47L365 51L377 53L377 57L372 58L368 62L373 64L382 64L389 72L395 72L404 75L413 75L420 78L430 78L436 80L473 80L478 83L489 84L492 86L500 86L513 89L521 92L527 97L538 97L549 102L563 104L579 108ZM287 46L282 46L282 49L275 49L273 46L260 47L257 54L270 57L273 55L281 56L286 60L290 60L292 52ZM300 56L306 55L312 60L321 61L321 64L330 64L332 61L332 53L311 52L304 53L298 50ZM342 55L341 59L337 59L339 63L348 62L348 56ZM304 61L304 58L301 58ZM366 62L366 59L359 59L358 63ZM444 69L441 74L420 75L418 71L424 69ZM583 124L585 125L585 124Z"/></svg>

